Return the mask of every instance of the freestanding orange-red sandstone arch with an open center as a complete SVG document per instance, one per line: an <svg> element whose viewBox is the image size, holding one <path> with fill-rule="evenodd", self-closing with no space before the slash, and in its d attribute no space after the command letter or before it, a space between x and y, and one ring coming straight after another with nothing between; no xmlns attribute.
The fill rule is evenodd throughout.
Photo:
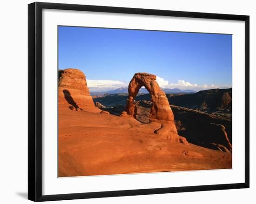
<svg viewBox="0 0 256 204"><path fill-rule="evenodd" d="M165 93L156 82L155 75L149 73L135 73L128 86L127 114L135 116L134 99L142 86L145 86L151 95L152 107L149 121L162 123L162 127L156 130L155 133L179 141L173 112Z"/></svg>

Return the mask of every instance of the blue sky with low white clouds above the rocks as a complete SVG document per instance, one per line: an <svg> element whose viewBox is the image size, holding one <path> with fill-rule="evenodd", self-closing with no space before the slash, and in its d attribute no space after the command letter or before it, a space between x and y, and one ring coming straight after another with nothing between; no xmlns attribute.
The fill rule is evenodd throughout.
<svg viewBox="0 0 256 204"><path fill-rule="evenodd" d="M232 35L59 26L59 69L78 68L90 91L128 86L136 72L161 87L232 84Z"/></svg>

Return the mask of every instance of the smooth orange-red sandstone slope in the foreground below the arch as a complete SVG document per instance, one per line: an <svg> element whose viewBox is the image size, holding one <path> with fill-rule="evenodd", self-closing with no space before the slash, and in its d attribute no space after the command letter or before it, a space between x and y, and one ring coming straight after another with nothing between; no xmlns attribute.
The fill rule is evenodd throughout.
<svg viewBox="0 0 256 204"><path fill-rule="evenodd" d="M171 141L162 124L59 106L59 177L232 168L232 154Z"/></svg>

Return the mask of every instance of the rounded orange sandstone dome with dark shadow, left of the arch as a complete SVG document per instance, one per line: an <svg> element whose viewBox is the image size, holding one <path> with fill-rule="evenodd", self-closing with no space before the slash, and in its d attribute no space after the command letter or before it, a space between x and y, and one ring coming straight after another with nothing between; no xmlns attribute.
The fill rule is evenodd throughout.
<svg viewBox="0 0 256 204"><path fill-rule="evenodd" d="M94 106L83 72L78 69L59 70L59 105L71 110L101 112Z"/></svg>

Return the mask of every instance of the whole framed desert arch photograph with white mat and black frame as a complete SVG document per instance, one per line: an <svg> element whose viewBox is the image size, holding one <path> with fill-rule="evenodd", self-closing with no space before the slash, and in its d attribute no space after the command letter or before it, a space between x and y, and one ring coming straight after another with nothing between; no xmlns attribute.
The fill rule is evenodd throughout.
<svg viewBox="0 0 256 204"><path fill-rule="evenodd" d="M28 199L249 188L249 16L28 5Z"/></svg>

